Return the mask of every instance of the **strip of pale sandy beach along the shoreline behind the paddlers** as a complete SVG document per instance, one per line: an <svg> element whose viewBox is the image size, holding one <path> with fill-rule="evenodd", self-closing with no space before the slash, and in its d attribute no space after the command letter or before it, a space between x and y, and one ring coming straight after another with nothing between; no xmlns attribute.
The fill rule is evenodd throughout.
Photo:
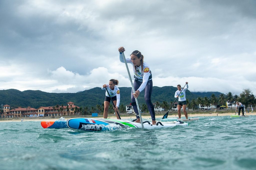
<svg viewBox="0 0 256 170"><path fill-rule="evenodd" d="M196 117L200 117L200 116L231 116L231 115L234 115L234 113L201 113L201 114L188 114L190 118L196 118ZM238 115L238 114L237 114ZM242 114L240 114L242 115ZM256 113L246 113L246 115L256 115ZM163 115L156 115L156 118L162 118ZM173 114L173 115L168 115L168 118L171 118L171 117L178 117L178 114ZM181 116L182 118L185 118L184 115ZM103 118L103 116L99 116L98 118ZM116 119L115 116L109 116L108 118L111 118L111 119ZM121 119L135 119L136 116L135 115L131 115L131 116L121 116ZM151 116L142 116L142 118L151 118ZM0 120L0 122L20 122L22 118L20 119L14 119L14 120ZM27 121L55 121L57 120L58 118L49 118L49 119L23 119L24 122L27 122ZM68 117L65 118L66 120L69 119Z"/></svg>

